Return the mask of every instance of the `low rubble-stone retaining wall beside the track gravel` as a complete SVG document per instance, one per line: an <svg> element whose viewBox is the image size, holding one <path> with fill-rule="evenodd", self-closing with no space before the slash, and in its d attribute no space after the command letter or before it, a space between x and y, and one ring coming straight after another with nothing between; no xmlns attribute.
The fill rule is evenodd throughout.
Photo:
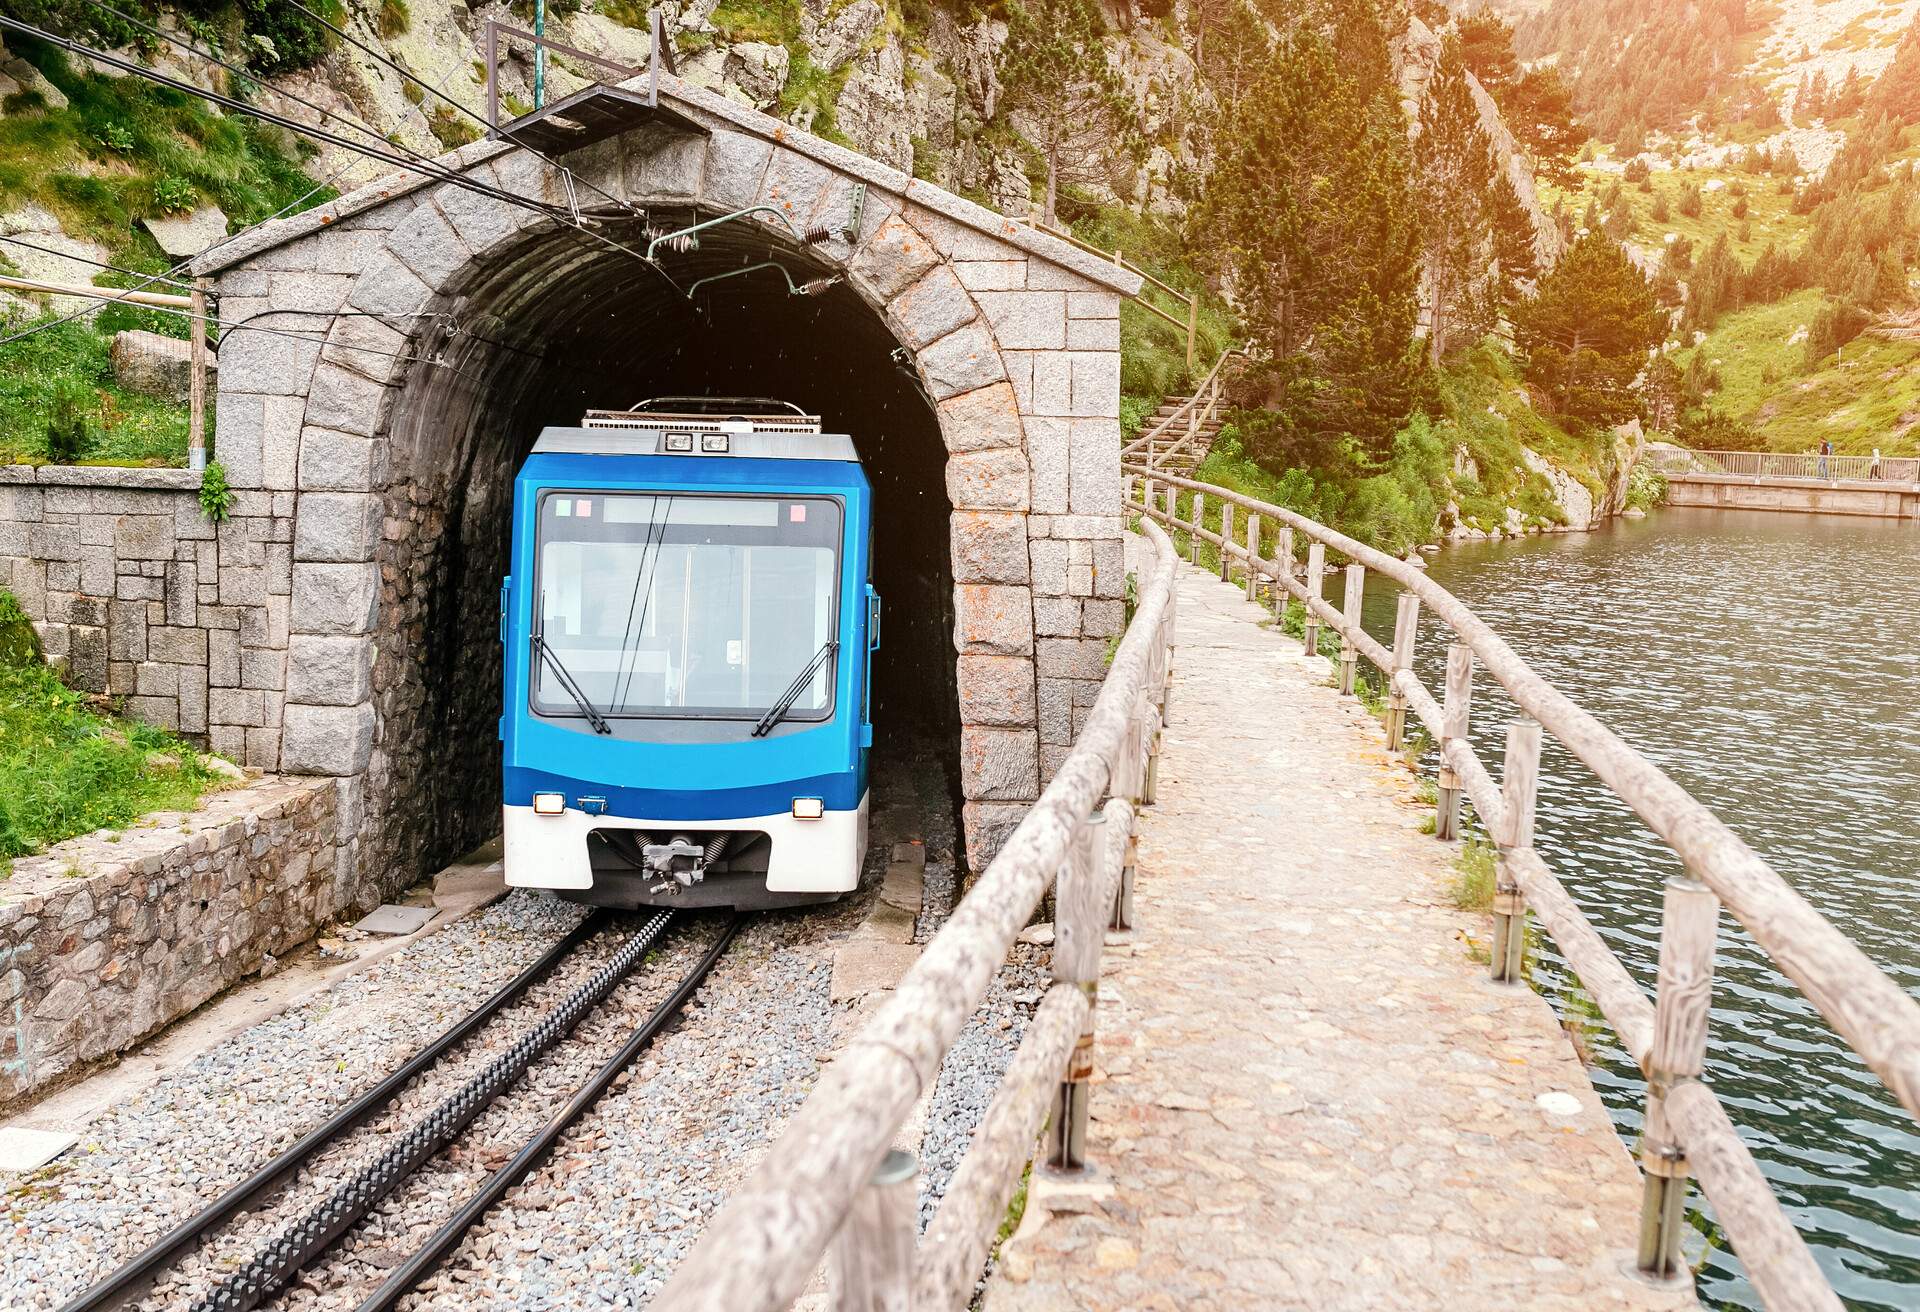
<svg viewBox="0 0 1920 1312"><path fill-rule="evenodd" d="M15 861L0 880L0 1106L313 937L348 903L338 839L334 780L263 778Z"/></svg>

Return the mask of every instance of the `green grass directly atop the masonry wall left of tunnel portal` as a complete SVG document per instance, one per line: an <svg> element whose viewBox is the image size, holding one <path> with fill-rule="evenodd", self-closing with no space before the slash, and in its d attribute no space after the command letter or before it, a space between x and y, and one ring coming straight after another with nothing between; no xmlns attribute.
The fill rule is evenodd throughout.
<svg viewBox="0 0 1920 1312"><path fill-rule="evenodd" d="M83 398L94 446L83 463L184 465L186 405L127 392L113 382L111 332L125 327L108 309L96 330L84 319L0 346L0 463L44 463L46 423L61 390ZM111 315L111 317L109 317ZM0 319L0 336L29 327Z"/></svg>

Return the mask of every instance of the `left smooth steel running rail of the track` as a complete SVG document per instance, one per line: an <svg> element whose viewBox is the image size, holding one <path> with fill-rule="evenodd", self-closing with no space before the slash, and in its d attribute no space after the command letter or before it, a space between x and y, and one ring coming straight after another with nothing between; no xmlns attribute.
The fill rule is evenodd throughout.
<svg viewBox="0 0 1920 1312"><path fill-rule="evenodd" d="M578 926L574 926L572 934L549 947L540 960L532 962L526 970L495 989L490 999L447 1028L438 1039L415 1053L399 1070L361 1093L317 1128L309 1130L305 1137L280 1153L276 1158L161 1235L144 1252L123 1264L104 1281L83 1293L79 1299L63 1304L60 1312L102 1312L104 1308L123 1308L129 1302L134 1302L142 1293L146 1293L146 1287L154 1283L154 1277L161 1268L198 1245L209 1231L227 1224L234 1214L248 1210L253 1203L286 1183L286 1179L290 1179L309 1156L334 1143L340 1135L367 1124L367 1120L392 1103L394 1095L413 1081L415 1076L438 1062L451 1047L463 1043L501 1008L515 1003L522 993L543 980L561 960L570 957L576 947L593 937L603 926L605 916L599 912L588 914Z"/></svg>

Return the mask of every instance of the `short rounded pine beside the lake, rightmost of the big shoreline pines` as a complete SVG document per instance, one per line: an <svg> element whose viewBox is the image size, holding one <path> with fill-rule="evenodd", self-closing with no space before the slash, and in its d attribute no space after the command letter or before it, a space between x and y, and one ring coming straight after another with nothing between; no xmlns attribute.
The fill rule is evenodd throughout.
<svg viewBox="0 0 1920 1312"><path fill-rule="evenodd" d="M1665 336L1665 315L1626 254L1590 232L1515 307L1513 332L1549 411L1613 425L1638 409L1634 378Z"/></svg>

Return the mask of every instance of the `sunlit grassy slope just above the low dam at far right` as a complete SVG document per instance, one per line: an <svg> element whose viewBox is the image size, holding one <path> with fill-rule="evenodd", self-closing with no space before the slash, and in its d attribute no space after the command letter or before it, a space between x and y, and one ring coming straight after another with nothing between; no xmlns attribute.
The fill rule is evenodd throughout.
<svg viewBox="0 0 1920 1312"><path fill-rule="evenodd" d="M1862 334L1809 371L1793 338L1818 311L1820 292L1807 290L1720 319L1697 348L1720 375L1709 403L1774 451L1811 451L1830 438L1843 453L1920 453L1920 342ZM1684 352L1680 367L1690 359Z"/></svg>

